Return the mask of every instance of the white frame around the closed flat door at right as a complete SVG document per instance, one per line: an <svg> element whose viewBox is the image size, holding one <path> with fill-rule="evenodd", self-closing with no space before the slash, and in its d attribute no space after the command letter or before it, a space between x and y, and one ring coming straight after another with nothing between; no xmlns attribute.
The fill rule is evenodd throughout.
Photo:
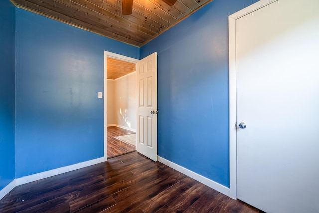
<svg viewBox="0 0 319 213"><path fill-rule="evenodd" d="M237 199L237 132L236 122L236 19L277 0L260 0L230 16L229 29L229 188L230 197Z"/></svg>

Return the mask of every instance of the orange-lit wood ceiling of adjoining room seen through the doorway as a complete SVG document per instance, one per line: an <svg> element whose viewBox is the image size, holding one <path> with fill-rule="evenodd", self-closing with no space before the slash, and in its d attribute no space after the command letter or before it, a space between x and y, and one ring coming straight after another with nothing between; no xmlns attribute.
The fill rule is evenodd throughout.
<svg viewBox="0 0 319 213"><path fill-rule="evenodd" d="M106 62L107 67L107 79L115 80L124 75L135 72L135 63L122 61L114 58L107 58Z"/></svg>

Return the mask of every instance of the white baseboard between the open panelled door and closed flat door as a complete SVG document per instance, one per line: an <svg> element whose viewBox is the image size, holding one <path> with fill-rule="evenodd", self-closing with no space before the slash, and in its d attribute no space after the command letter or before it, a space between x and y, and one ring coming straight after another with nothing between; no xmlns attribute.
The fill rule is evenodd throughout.
<svg viewBox="0 0 319 213"><path fill-rule="evenodd" d="M158 161L160 161L161 163L195 179L196 181L199 181L200 183L202 184L205 184L206 186L209 186L210 188L213 188L214 190L224 194L224 195L227 195L227 196L230 196L230 189L228 187L225 187L213 180L210 180L202 175L199 175L189 169L186 169L185 167L182 167L178 164L175 164L167 159L164 159L160 156L158 156Z"/></svg>

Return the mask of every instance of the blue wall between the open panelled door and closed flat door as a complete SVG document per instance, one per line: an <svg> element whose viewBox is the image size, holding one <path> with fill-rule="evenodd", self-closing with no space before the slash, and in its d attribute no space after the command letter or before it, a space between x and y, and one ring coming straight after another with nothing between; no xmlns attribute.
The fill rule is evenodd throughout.
<svg viewBox="0 0 319 213"><path fill-rule="evenodd" d="M229 187L228 16L214 0L141 48L158 52L158 155Z"/></svg>

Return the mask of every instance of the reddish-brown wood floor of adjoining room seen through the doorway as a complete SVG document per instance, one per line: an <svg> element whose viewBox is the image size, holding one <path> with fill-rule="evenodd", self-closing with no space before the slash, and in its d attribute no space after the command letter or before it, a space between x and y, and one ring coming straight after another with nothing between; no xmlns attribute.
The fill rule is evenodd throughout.
<svg viewBox="0 0 319 213"><path fill-rule="evenodd" d="M115 138L117 136L134 134L130 130L122 129L116 126L107 127L107 157L113 157L121 155L127 152L132 152L135 150L135 146L124 143L121 140Z"/></svg>

